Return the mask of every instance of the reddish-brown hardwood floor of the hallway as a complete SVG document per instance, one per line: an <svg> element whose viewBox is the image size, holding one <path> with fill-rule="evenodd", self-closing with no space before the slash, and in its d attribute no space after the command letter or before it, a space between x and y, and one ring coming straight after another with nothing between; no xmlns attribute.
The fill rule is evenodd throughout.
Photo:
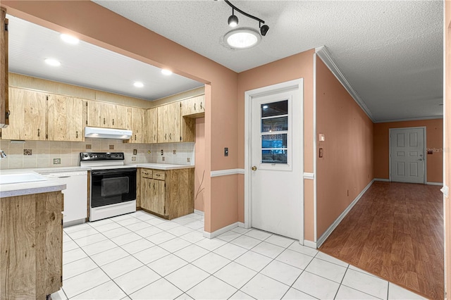
<svg viewBox="0 0 451 300"><path fill-rule="evenodd" d="M443 299L440 187L374 182L319 250L429 299Z"/></svg>

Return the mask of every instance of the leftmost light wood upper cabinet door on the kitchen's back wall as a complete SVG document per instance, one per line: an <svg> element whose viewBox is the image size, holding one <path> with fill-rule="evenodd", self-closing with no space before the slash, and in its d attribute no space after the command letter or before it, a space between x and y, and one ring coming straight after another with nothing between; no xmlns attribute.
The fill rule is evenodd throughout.
<svg viewBox="0 0 451 300"><path fill-rule="evenodd" d="M2 139L46 139L47 94L11 87L9 110L9 126L1 130Z"/></svg>

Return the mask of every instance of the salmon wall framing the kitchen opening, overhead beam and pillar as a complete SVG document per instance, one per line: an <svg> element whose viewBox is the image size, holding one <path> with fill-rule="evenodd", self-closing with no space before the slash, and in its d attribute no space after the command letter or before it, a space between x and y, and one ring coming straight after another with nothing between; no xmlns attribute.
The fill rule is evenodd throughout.
<svg viewBox="0 0 451 300"><path fill-rule="evenodd" d="M206 84L205 170L237 168L237 73L92 1L1 1L11 15ZM223 157L228 146L230 156ZM237 180L204 181L205 230L237 222ZM230 187L218 189L218 186Z"/></svg>

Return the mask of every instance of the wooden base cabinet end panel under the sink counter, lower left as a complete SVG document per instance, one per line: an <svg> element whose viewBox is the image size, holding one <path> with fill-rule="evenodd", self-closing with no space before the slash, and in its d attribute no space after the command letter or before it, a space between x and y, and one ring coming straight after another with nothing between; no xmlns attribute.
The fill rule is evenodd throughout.
<svg viewBox="0 0 451 300"><path fill-rule="evenodd" d="M46 299L63 285L63 194L5 197L0 206L0 299Z"/></svg>

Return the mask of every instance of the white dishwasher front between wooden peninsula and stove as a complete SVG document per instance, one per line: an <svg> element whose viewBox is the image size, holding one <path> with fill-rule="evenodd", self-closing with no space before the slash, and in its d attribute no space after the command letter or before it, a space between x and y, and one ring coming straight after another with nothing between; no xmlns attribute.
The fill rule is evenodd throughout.
<svg viewBox="0 0 451 300"><path fill-rule="evenodd" d="M63 189L63 225L85 223L87 218L87 171L40 173L66 184Z"/></svg>

